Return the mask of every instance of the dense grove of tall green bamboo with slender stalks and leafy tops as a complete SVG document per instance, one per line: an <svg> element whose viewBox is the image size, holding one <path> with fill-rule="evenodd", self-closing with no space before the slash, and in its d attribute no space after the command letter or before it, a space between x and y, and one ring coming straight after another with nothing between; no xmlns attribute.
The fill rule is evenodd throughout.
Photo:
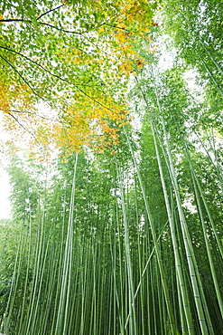
<svg viewBox="0 0 223 335"><path fill-rule="evenodd" d="M6 335L223 334L222 4L163 3L172 66L135 46L116 154L10 156Z"/></svg>

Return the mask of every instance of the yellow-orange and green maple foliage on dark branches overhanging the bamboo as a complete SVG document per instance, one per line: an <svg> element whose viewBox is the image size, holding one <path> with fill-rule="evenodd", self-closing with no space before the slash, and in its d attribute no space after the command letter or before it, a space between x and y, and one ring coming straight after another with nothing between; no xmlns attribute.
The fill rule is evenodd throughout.
<svg viewBox="0 0 223 335"><path fill-rule="evenodd" d="M15 3L0 16L0 109L5 129L68 151L118 145L128 78L144 66L158 2ZM5 80L7 78L7 80ZM43 106L44 108L40 107Z"/></svg>

